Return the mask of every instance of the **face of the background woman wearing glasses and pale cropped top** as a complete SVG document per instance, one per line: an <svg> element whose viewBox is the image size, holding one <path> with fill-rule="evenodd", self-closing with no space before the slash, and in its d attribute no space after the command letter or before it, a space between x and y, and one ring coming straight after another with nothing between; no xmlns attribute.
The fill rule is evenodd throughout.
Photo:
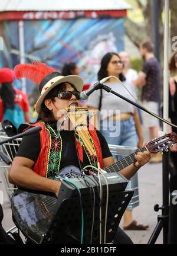
<svg viewBox="0 0 177 256"><path fill-rule="evenodd" d="M107 65L108 76L113 75L119 77L120 73L122 73L122 69L122 60L117 55L113 55L109 64Z"/></svg>

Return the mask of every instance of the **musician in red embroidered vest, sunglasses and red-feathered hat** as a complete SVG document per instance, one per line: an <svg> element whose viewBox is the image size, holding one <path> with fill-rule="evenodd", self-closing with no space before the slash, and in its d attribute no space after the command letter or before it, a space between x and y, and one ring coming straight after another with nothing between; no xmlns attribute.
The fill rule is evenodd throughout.
<svg viewBox="0 0 177 256"><path fill-rule="evenodd" d="M99 162L101 168L106 168L114 163L106 140L93 127L90 129L89 126L88 129L95 155L90 155L76 130L57 128L57 121L62 119L60 110L79 105L79 95L83 89L80 76L62 76L44 63L36 62L17 65L14 72L17 78L31 79L39 85L41 95L35 105L38 120L32 126L41 126L42 130L23 137L9 172L10 183L32 190L53 192L58 197L61 183L54 180L54 177L65 166L97 167ZM139 152L135 157L134 164L120 171L127 179L149 161L150 153ZM119 244L132 243L120 228L117 229L116 237Z"/></svg>

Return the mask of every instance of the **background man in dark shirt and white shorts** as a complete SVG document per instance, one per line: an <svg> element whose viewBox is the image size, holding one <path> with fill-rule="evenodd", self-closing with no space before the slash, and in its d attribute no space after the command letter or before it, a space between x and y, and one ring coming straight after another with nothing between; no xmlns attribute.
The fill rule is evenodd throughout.
<svg viewBox="0 0 177 256"><path fill-rule="evenodd" d="M143 105L148 108L148 110L159 115L160 65L153 53L153 44L150 41L144 41L140 44L140 53L145 62L137 79L133 81L133 85L135 87L139 85L142 88ZM150 139L152 140L159 137L159 120L145 111L142 111L142 117L144 126L149 130ZM158 153L152 155L150 162L160 161L162 161L162 155Z"/></svg>

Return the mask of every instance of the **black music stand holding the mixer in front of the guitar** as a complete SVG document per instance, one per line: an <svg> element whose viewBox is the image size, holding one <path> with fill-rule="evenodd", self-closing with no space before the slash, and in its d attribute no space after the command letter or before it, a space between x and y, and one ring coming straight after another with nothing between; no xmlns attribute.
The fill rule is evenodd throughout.
<svg viewBox="0 0 177 256"><path fill-rule="evenodd" d="M106 243L112 242L119 226L120 220L132 199L133 191L110 191L109 206L107 212ZM60 197L58 197L60 198ZM92 213L90 195L82 196L84 212L83 244L90 244ZM96 194L96 206L94 211L94 228L92 244L99 244L99 209L100 199ZM104 235L104 217L106 207L106 193L102 201L102 234ZM43 235L40 244L80 244L81 238L81 207L79 197L65 199L57 206L54 219L50 228ZM102 237L103 241L103 237Z"/></svg>

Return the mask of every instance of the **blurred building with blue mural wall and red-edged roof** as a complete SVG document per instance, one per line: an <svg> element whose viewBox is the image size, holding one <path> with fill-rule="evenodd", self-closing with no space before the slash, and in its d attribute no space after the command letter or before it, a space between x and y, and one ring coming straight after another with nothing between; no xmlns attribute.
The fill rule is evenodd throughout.
<svg viewBox="0 0 177 256"><path fill-rule="evenodd" d="M4 38L0 66L14 68L36 60L61 71L65 62L76 62L84 82L93 82L101 57L124 49L124 17L129 8L117 0L4 0L0 7L0 35ZM26 83L22 89L30 95L34 85Z"/></svg>

